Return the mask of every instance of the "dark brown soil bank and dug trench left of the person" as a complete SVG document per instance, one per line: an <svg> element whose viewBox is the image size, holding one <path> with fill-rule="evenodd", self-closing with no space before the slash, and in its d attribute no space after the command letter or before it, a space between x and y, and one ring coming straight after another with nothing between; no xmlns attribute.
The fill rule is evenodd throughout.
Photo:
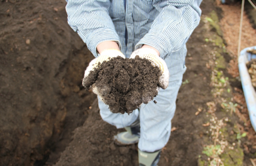
<svg viewBox="0 0 256 166"><path fill-rule="evenodd" d="M0 165L54 163L96 95L94 58L67 24L65 0L0 0Z"/></svg>

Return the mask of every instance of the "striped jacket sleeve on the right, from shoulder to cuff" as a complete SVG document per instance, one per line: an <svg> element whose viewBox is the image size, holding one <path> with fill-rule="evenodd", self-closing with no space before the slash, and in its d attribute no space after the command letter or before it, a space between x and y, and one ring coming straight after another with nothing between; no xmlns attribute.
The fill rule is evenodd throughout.
<svg viewBox="0 0 256 166"><path fill-rule="evenodd" d="M160 2L161 1L161 2ZM152 46L165 58L179 50L189 39L200 22L202 0L154 0L153 6L160 11L148 33L136 44Z"/></svg>

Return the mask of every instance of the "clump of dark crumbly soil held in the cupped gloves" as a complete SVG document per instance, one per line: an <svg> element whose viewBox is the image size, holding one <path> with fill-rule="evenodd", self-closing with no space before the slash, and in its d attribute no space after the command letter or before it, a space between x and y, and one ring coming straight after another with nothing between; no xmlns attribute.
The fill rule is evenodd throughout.
<svg viewBox="0 0 256 166"><path fill-rule="evenodd" d="M96 87L111 112L129 114L156 97L160 76L161 70L145 58L115 57L91 71L83 86Z"/></svg>

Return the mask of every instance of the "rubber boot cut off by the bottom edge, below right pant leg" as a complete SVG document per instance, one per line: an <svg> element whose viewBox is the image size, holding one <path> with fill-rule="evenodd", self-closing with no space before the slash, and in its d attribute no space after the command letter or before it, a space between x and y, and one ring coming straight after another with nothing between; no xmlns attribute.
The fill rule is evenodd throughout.
<svg viewBox="0 0 256 166"><path fill-rule="evenodd" d="M139 166L157 166L160 159L161 150L162 149L149 153L138 149Z"/></svg>

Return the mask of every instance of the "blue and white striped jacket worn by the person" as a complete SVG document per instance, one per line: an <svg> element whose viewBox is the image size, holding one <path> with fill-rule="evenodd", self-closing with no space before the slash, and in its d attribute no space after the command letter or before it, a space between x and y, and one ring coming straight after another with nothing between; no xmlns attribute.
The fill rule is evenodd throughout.
<svg viewBox="0 0 256 166"><path fill-rule="evenodd" d="M66 0L68 23L98 57L96 46L116 41L130 54L143 44L160 57L179 50L200 21L202 0Z"/></svg>

